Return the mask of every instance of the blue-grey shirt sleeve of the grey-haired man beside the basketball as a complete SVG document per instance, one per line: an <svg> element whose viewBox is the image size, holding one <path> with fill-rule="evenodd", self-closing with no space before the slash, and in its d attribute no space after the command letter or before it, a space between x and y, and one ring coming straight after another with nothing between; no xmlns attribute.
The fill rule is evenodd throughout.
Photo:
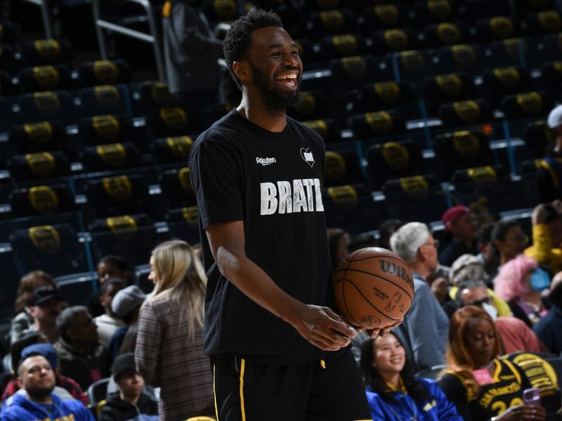
<svg viewBox="0 0 562 421"><path fill-rule="evenodd" d="M414 359L420 369L445 363L445 349L441 346L443 338L439 337L436 323L438 310L443 312L429 285L421 283L415 290L406 323Z"/></svg>

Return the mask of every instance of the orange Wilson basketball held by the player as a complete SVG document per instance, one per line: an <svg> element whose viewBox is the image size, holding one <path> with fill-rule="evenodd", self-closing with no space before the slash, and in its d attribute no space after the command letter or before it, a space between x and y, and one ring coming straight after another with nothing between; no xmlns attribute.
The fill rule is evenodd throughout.
<svg viewBox="0 0 562 421"><path fill-rule="evenodd" d="M386 328L402 319L414 299L414 279L404 260L386 248L350 253L334 272L334 299L352 326Z"/></svg>

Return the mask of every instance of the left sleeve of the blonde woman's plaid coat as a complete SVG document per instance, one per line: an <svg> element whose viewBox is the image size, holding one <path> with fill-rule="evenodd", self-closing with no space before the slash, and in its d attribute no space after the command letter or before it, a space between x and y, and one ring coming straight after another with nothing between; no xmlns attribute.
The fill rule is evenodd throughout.
<svg viewBox="0 0 562 421"><path fill-rule="evenodd" d="M158 387L160 383L160 342L162 329L158 316L150 301L141 309L138 320L138 335L135 347L135 361L139 373L148 385Z"/></svg>

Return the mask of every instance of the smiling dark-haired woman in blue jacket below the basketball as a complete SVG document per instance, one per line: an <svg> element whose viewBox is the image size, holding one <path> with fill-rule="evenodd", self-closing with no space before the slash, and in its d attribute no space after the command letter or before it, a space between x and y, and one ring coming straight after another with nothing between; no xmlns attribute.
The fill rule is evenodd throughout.
<svg viewBox="0 0 562 421"><path fill-rule="evenodd" d="M393 333L365 341L360 366L374 421L462 421L436 382L414 377Z"/></svg>

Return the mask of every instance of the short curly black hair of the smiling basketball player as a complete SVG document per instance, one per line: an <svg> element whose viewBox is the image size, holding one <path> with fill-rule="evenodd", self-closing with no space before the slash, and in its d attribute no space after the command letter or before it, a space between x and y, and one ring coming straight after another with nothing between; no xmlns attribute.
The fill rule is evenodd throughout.
<svg viewBox="0 0 562 421"><path fill-rule="evenodd" d="M251 33L266 27L283 27L281 18L276 13L254 9L234 22L226 33L223 42L226 67L240 90L242 83L234 73L233 63L244 60L250 46Z"/></svg>

